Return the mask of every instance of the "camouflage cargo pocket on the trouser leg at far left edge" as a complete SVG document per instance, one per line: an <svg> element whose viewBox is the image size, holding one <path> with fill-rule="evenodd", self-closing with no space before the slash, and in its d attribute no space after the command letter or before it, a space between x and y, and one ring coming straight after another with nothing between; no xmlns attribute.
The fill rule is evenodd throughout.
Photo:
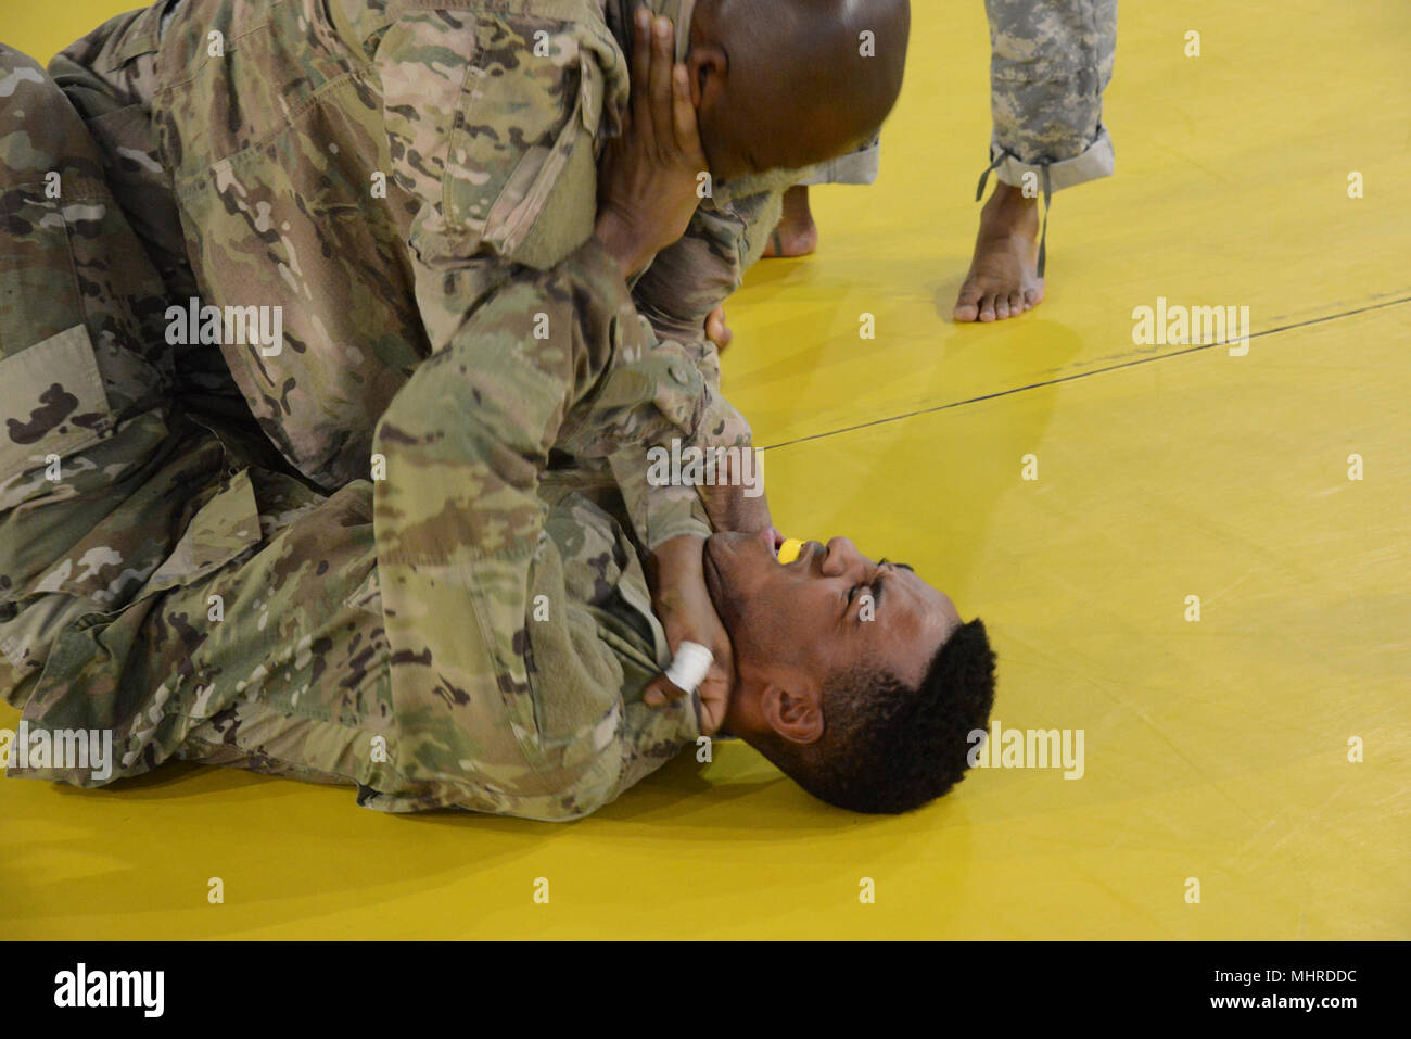
<svg viewBox="0 0 1411 1039"><path fill-rule="evenodd" d="M79 313L76 306L72 313ZM0 511L31 497L25 490L31 483L24 479L27 474L35 473L42 480L38 470L52 470L58 480L63 459L113 428L93 343L83 325L0 360L0 400L4 401ZM23 486L16 486L17 479Z"/></svg>

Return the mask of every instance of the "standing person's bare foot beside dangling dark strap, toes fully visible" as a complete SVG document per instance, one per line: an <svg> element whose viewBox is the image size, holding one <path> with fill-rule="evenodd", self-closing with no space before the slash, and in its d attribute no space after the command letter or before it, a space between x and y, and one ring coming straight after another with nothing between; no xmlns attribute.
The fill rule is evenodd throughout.
<svg viewBox="0 0 1411 1039"><path fill-rule="evenodd" d="M1038 199L1000 182L979 215L975 258L955 301L954 320L1017 318L1044 298L1038 277Z"/></svg>

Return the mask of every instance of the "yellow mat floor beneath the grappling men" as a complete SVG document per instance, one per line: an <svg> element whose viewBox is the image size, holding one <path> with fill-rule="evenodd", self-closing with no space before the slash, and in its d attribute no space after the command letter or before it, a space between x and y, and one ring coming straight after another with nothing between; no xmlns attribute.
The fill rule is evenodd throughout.
<svg viewBox="0 0 1411 1039"><path fill-rule="evenodd" d="M0 0L0 35L48 58L124 6ZM569 827L189 767L8 781L0 935L1411 937L1411 7L1127 3L1119 175L1057 198L1050 298L993 328L947 320L982 4L913 7L882 178L816 192L820 253L752 272L727 391L777 445L779 525L983 617L996 717L1084 730L1082 779L978 772L878 820L731 744ZM1247 305L1249 354L1133 346L1157 296Z"/></svg>

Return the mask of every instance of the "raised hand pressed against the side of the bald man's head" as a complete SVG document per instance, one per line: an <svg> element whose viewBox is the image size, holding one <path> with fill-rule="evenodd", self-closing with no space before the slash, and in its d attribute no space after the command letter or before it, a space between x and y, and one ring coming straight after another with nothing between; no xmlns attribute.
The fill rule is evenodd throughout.
<svg viewBox="0 0 1411 1039"><path fill-rule="evenodd" d="M700 205L706 152L686 66L674 64L674 48L670 18L652 18L639 8L624 131L608 143L598 169L597 236L624 275L677 241Z"/></svg>

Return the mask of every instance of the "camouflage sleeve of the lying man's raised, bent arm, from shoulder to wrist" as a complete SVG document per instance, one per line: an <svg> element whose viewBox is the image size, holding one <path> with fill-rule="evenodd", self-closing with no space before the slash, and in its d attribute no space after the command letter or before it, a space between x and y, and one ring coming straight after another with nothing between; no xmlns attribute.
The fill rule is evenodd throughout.
<svg viewBox="0 0 1411 1039"><path fill-rule="evenodd" d="M635 320L595 241L553 271L516 268L378 425L398 768L447 805L573 819L698 734L690 702L624 703L538 494L556 445L610 453L686 421L615 366Z"/></svg>

